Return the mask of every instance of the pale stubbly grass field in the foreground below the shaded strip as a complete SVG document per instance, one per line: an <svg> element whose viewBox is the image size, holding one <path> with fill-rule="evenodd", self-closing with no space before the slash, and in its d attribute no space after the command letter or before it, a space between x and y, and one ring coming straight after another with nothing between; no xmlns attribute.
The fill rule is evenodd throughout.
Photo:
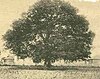
<svg viewBox="0 0 100 79"><path fill-rule="evenodd" d="M100 68L29 70L1 67L0 79L100 79Z"/></svg>

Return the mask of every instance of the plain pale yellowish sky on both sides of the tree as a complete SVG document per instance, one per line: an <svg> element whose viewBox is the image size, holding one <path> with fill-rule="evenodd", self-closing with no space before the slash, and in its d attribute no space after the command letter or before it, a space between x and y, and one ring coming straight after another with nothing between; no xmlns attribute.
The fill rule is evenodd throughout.
<svg viewBox="0 0 100 79"><path fill-rule="evenodd" d="M3 54L2 35L11 28L13 21L21 17L23 12L26 12L29 6L33 5L38 0L0 0L0 50ZM70 2L74 7L79 9L79 14L82 14L89 21L90 29L96 34L93 41L92 56L100 57L100 1L99 0L65 0ZM7 53L6 53L7 54Z"/></svg>

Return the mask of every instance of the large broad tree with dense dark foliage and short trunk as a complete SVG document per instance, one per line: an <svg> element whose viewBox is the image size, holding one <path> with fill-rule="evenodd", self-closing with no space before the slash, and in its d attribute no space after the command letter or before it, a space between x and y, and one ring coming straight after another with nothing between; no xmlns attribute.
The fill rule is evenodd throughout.
<svg viewBox="0 0 100 79"><path fill-rule="evenodd" d="M12 23L3 38L18 57L50 66L58 59L89 58L93 37L89 22L68 2L40 0Z"/></svg>

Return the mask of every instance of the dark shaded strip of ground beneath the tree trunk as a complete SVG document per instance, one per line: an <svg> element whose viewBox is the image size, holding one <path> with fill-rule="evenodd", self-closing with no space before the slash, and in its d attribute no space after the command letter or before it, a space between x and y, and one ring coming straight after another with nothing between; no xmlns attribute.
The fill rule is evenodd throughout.
<svg viewBox="0 0 100 79"><path fill-rule="evenodd" d="M1 66L2 67L2 66ZM13 70L100 70L100 66L51 66L50 68L42 65L15 65L15 66L5 66Z"/></svg>

